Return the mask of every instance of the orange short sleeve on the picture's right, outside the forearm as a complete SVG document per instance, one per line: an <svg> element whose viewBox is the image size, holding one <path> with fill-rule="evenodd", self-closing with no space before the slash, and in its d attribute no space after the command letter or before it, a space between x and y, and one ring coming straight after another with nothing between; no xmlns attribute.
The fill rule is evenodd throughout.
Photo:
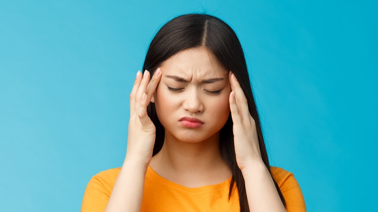
<svg viewBox="0 0 378 212"><path fill-rule="evenodd" d="M279 167L272 167L271 171L285 198L286 211L306 212L303 194L293 173Z"/></svg>

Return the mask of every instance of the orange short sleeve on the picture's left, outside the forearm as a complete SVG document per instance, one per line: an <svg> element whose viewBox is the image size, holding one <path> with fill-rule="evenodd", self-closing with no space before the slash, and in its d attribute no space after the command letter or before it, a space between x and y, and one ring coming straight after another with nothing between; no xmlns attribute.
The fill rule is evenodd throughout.
<svg viewBox="0 0 378 212"><path fill-rule="evenodd" d="M117 179L119 168L102 171L88 182L81 203L81 212L104 212Z"/></svg>

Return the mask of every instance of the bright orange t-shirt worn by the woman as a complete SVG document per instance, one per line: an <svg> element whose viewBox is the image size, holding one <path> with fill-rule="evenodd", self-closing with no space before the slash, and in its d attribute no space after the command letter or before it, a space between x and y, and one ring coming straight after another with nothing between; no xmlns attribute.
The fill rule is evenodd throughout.
<svg viewBox="0 0 378 212"><path fill-rule="evenodd" d="M306 212L303 195L291 172L270 167L286 200L288 212ZM81 212L104 212L121 168L96 174L84 193ZM231 178L215 185L189 188L170 182L147 168L144 182L142 212L239 212L239 197L234 190L228 199Z"/></svg>

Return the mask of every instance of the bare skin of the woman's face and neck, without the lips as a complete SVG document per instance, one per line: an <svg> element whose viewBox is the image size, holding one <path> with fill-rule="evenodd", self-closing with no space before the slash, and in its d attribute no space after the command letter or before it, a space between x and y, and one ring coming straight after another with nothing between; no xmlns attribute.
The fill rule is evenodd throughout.
<svg viewBox="0 0 378 212"><path fill-rule="evenodd" d="M205 48L184 50L160 68L163 76L152 102L165 128L165 140L150 166L167 180L187 187L227 180L231 175L221 159L219 131L230 114L228 71ZM178 121L182 117L204 124L188 128Z"/></svg>

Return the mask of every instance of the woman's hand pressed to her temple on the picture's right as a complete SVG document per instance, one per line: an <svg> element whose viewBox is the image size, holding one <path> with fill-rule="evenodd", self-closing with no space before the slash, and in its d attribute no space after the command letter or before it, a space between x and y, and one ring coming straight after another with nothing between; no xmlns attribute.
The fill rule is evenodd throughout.
<svg viewBox="0 0 378 212"><path fill-rule="evenodd" d="M234 122L234 143L237 166L243 171L256 162L262 162L256 124L252 118L247 98L234 74L229 74L232 92L230 93L230 109Z"/></svg>

